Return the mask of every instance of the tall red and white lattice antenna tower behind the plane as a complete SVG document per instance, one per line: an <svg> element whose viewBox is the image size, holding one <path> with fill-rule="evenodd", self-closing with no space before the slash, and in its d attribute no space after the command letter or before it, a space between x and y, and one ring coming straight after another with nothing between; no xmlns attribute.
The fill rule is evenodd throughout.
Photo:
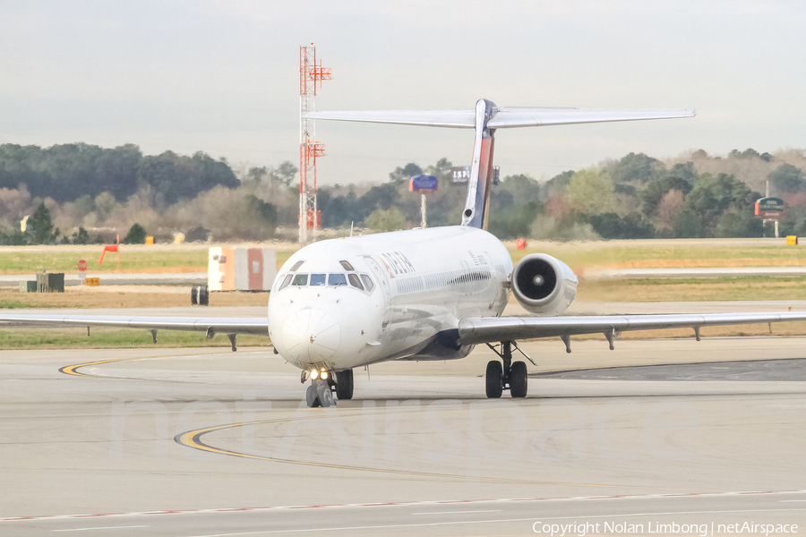
<svg viewBox="0 0 806 537"><path fill-rule="evenodd" d="M316 47L299 47L299 243L308 243L308 228L312 230L312 240L322 223L316 207L316 158L324 157L324 144L315 140L313 119L305 119L305 114L316 107L316 84L322 88L322 81L330 80L330 67L316 64Z"/></svg>

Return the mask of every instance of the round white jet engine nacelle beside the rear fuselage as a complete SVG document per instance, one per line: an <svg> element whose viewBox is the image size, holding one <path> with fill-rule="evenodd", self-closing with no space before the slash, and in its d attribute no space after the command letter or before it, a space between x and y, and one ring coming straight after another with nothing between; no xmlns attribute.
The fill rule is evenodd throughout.
<svg viewBox="0 0 806 537"><path fill-rule="evenodd" d="M546 317L568 309L578 283L568 265L544 253L527 255L512 270L512 292L520 305Z"/></svg>

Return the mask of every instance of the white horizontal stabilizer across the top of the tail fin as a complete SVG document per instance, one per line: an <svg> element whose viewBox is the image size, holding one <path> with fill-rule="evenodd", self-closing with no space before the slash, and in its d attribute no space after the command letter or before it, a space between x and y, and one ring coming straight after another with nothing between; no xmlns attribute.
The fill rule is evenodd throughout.
<svg viewBox="0 0 806 537"><path fill-rule="evenodd" d="M599 110L594 108L498 108L487 122L491 129L539 127L638 121L642 119L673 119L696 115L693 110ZM473 129L475 110L372 110L357 112L310 112L308 119L330 119L380 124L421 125Z"/></svg>

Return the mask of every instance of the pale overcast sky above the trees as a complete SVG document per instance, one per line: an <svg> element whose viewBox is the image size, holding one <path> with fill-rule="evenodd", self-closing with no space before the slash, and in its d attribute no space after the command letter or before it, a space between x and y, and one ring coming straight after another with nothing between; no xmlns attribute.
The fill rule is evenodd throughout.
<svg viewBox="0 0 806 537"><path fill-rule="evenodd" d="M298 47L318 110L696 108L693 119L500 131L502 175L643 151L804 148L806 2L0 3L0 143L127 142L234 166L298 160ZM322 183L468 164L472 131L319 122Z"/></svg>

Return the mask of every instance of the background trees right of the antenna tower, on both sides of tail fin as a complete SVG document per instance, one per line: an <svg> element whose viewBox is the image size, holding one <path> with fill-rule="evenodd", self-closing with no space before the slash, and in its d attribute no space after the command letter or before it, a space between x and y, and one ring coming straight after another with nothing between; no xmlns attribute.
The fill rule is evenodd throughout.
<svg viewBox="0 0 806 537"><path fill-rule="evenodd" d="M771 194L783 197L787 206L782 232L806 233L806 178L802 168L783 160L787 157L806 164L803 151L776 157L734 150L721 158L699 150L669 165L630 153L544 183L507 175L491 192L489 229L502 239L760 237L765 230L754 216L755 201L762 197L756 189L768 181ZM466 187L451 182L450 166L445 159L425 168L409 163L360 196L353 187L323 189L322 222L353 222L380 231L416 225L419 197L407 192L407 179L427 173L440 185L428 194L429 225L455 224Z"/></svg>

